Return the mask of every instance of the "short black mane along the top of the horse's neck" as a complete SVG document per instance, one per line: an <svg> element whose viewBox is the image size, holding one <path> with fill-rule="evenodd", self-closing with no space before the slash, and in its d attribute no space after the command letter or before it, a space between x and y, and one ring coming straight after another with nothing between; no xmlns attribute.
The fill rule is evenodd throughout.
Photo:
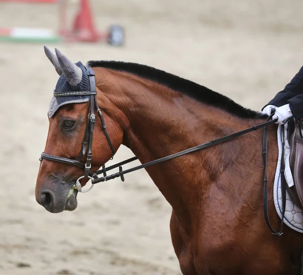
<svg viewBox="0 0 303 275"><path fill-rule="evenodd" d="M203 102L218 108L221 108L228 113L234 114L240 118L261 118L260 112L252 111L235 103L230 98L217 93L205 86L199 85L193 81L182 77L167 73L165 71L155 69L146 65L137 63L128 63L121 61L89 61L87 63L91 67L103 67L107 69L124 71L135 74L137 76L158 82L171 89L180 91L199 102Z"/></svg>

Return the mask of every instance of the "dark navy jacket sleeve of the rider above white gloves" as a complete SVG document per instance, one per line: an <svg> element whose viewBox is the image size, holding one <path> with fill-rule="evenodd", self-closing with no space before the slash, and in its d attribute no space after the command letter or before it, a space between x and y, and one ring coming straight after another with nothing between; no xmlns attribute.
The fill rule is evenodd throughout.
<svg viewBox="0 0 303 275"><path fill-rule="evenodd" d="M301 67L299 72L291 79L285 88L281 90L267 105L275 105L277 107L280 107L289 103L291 111L294 110L295 114L299 114L297 112L299 106L300 108L303 107L302 101L300 99L301 95L303 95L303 67ZM295 107L297 104L299 105ZM303 117L303 115L301 117Z"/></svg>

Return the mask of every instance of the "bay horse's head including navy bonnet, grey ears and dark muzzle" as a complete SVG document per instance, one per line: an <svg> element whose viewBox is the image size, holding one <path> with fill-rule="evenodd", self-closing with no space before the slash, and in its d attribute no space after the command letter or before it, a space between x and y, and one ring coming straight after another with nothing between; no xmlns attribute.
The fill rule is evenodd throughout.
<svg viewBox="0 0 303 275"><path fill-rule="evenodd" d="M121 145L123 132L98 108L96 93L101 92L95 86L92 69L81 62L74 64L58 49L56 55L47 47L44 51L60 77L48 110L49 128L40 159L36 200L49 212L59 213L77 207L77 179L84 177L85 170L81 180L85 186L92 171L106 163ZM103 121L94 119L94 106ZM112 139L107 122L115 133Z"/></svg>

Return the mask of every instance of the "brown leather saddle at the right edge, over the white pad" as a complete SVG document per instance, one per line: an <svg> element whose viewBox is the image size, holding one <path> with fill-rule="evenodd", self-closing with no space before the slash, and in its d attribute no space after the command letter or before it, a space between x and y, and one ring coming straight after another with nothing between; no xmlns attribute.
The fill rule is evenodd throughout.
<svg viewBox="0 0 303 275"><path fill-rule="evenodd" d="M289 164L294 185L288 187L288 194L293 203L303 209L303 120L288 120L288 142L290 145Z"/></svg>

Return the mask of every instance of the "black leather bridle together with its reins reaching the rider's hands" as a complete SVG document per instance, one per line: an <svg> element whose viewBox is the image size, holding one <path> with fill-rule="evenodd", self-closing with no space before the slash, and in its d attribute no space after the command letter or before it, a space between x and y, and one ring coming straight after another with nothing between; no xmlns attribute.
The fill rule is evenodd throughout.
<svg viewBox="0 0 303 275"><path fill-rule="evenodd" d="M79 167L80 169L84 170L84 175L79 177L76 180L76 189L79 192L88 192L89 190L92 189L92 187L99 183L99 182L103 182L103 181L108 181L110 179L114 179L117 177L120 177L122 181L124 181L124 175L128 174L130 172L151 166L151 165L155 165L155 164L159 164L174 158L178 158L181 157L183 155L198 151L198 150L202 150L205 148L208 148L210 146L222 143L222 142L226 142L228 140L231 140L233 138L236 138L237 136L252 132L252 131L256 131L258 129L264 128L264 137L263 137L263 162L264 162L264 215L265 215L265 220L266 223L268 225L268 227L270 228L270 230L272 231L272 234L274 234L275 236L281 236L282 235L282 229L283 229L283 218L284 218L284 213L285 213L285 204L286 204L286 180L284 177L284 158L282 157L282 161L281 161L281 175L282 175L282 180L281 180L281 190L282 190L282 207L283 207L283 211L282 211L282 219L281 219L281 229L280 232L276 232L273 227L271 226L270 222L269 222L269 217L268 217L268 190L267 190L267 143L268 143L268 126L274 124L277 119L275 120L270 120L273 116L270 115L267 119L266 122L252 126L250 128L247 128L245 130L233 133L233 134L229 134L226 136L223 136L222 138L219 138L217 140L214 141L210 141L195 147L191 147L189 149L183 150L181 152L160 158L160 159L156 159L135 167L132 167L130 169L127 170L123 170L122 165L125 165L127 163L130 163L132 161L137 160L137 157L132 157L129 158L127 160L124 160L122 162L119 162L117 164L114 164L112 166L106 167L105 165L102 166L102 169L97 170L96 172L91 171L91 159L92 159L92 137L93 137L93 131L94 131L94 124L95 124L95 115L94 115L94 107L96 107L97 110L97 114L98 117L101 121L102 124L102 128L105 132L107 141L109 143L109 146L111 148L112 154L113 156L115 155L115 151L111 142L111 139L109 137L109 134L107 132L107 127L103 118L103 114L98 106L97 103L97 99L96 99L96 90L95 90L95 75L94 72L92 70L91 67L89 67L88 65L85 66L86 68L86 73L89 76L89 81L90 81L90 90L89 91L67 91L64 93L55 93L54 92L54 96L55 97L66 97L66 96L89 96L89 102L90 102L90 108L88 111L88 116L87 116L87 123L86 123L86 129L85 129L85 135L84 135L84 139L82 142L82 149L79 153L79 156L77 158L77 160L72 160L72 159L68 159L68 158L63 158L63 157L58 157L58 156L52 156L49 154L45 154L44 152L41 153L41 157L40 157L40 161L42 161L43 159L46 160L51 160L51 161L57 161L57 162L61 162L61 163L65 163L65 164L71 164L71 165L75 165L77 167ZM282 125L283 126L283 125ZM284 131L282 131L284 133ZM283 139L284 140L284 139ZM284 146L283 146L283 150L284 150ZM81 162L82 157L84 156L86 152L86 162L85 164ZM283 152L282 152L283 154ZM113 159L113 157L111 158ZM113 173L110 175L107 175L107 172L110 170L113 170L115 168L119 167L119 172L117 173ZM102 177L98 177L99 174L103 174ZM81 184L80 184L80 179L82 178L90 178L91 179L91 187L86 190L86 191L82 191L81 189Z"/></svg>

